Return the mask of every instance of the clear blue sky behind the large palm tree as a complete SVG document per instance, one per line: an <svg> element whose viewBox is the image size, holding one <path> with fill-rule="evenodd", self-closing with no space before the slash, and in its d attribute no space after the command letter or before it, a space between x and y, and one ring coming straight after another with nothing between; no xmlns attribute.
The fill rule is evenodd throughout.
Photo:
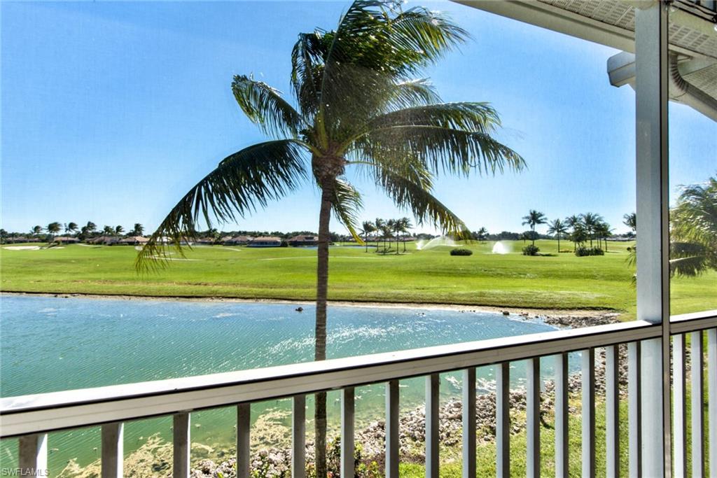
<svg viewBox="0 0 717 478"><path fill-rule="evenodd" d="M594 211L617 231L635 209L635 95L609 85L617 51L449 2L473 41L427 71L444 100L489 101L499 138L528 170L440 178L436 194L471 229L525 229ZM217 163L262 135L232 76L288 92L298 32L336 26L345 1L11 3L1 8L1 226L51 221L153 229ZM717 170L717 125L670 104L670 181ZM370 183L365 218L406 215ZM317 229L307 185L224 229ZM343 227L333 223L333 230ZM429 231L430 228L424 228Z"/></svg>

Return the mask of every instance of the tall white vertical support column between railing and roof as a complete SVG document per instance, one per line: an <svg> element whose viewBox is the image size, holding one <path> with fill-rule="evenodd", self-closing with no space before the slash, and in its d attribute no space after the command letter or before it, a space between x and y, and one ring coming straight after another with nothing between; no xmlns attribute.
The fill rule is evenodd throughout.
<svg viewBox="0 0 717 478"><path fill-rule="evenodd" d="M662 324L642 343L642 474L670 476L668 9L635 7L637 319ZM665 453L665 451L668 451Z"/></svg>

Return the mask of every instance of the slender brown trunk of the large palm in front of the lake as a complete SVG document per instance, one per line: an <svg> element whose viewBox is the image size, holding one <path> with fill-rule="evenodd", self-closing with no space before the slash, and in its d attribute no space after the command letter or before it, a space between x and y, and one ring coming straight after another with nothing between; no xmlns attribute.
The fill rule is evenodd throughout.
<svg viewBox="0 0 717 478"><path fill-rule="evenodd" d="M328 243L333 178L322 181L321 209L318 219L316 265L316 338L314 360L326 360L326 300L328 298ZM314 411L316 477L326 477L326 392L316 393Z"/></svg>

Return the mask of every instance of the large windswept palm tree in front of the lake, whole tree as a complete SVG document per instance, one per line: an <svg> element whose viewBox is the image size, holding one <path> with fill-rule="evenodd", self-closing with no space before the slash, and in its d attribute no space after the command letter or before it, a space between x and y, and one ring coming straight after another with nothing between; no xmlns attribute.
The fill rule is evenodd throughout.
<svg viewBox="0 0 717 478"><path fill-rule="evenodd" d="M180 199L138 255L140 269L166 265L159 240L196 236L200 221L235 221L295 191L321 191L318 214L315 360L326 358L326 298L331 213L359 242L361 195L348 169L371 178L419 224L466 236L465 224L432 194L436 173L521 170L521 156L492 134L500 126L487 103L441 102L425 67L469 37L446 16L400 2L356 0L335 31L299 34L291 55L298 109L280 92L238 75L232 92L247 118L273 138L224 158ZM316 394L316 475L326 477L326 393Z"/></svg>

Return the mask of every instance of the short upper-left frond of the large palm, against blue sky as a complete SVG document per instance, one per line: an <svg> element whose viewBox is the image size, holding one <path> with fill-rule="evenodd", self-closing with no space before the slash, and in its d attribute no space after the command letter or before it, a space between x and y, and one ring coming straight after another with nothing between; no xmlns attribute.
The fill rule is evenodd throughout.
<svg viewBox="0 0 717 478"><path fill-rule="evenodd" d="M295 138L305 125L301 115L281 97L281 93L265 82L236 75L232 92L247 118L267 135Z"/></svg>

